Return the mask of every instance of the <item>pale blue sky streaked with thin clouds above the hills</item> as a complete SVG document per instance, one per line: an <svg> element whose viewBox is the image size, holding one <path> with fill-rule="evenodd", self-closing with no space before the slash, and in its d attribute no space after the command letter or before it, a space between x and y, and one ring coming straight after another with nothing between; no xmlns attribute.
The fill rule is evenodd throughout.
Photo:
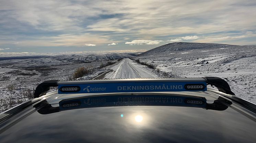
<svg viewBox="0 0 256 143"><path fill-rule="evenodd" d="M0 53L256 44L255 0L0 0Z"/></svg>

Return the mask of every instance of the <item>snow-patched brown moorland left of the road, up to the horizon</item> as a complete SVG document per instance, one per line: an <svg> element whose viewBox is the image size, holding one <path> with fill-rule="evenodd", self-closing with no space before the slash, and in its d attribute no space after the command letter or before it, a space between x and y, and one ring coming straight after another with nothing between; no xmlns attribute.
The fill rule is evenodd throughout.
<svg viewBox="0 0 256 143"><path fill-rule="evenodd" d="M46 80L68 80L68 77L79 67L92 66L97 68L91 75L78 80L88 80L107 69L98 68L107 62L117 62L118 59L131 58L140 52L115 51L96 53L0 53L0 99L9 96L7 87L15 85L17 91L35 89Z"/></svg>

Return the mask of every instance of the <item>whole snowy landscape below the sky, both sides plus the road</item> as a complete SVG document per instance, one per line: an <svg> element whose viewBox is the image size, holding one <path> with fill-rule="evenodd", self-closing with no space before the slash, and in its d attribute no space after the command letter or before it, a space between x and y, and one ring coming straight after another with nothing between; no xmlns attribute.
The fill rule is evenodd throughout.
<svg viewBox="0 0 256 143"><path fill-rule="evenodd" d="M107 62L115 63L98 68ZM97 70L77 80L217 76L230 84L236 96L256 103L256 46L206 43L170 43L144 53L0 53L0 99L9 95L9 85L18 91L34 89L46 80L68 80L75 69L86 66Z"/></svg>

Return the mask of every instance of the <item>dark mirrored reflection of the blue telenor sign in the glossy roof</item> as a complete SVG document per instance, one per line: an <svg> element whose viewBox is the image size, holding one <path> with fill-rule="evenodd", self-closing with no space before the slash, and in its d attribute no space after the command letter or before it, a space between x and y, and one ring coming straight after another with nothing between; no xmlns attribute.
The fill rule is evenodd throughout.
<svg viewBox="0 0 256 143"><path fill-rule="evenodd" d="M202 97L165 95L117 95L65 99L59 102L60 110L106 107L106 106L187 106L206 108Z"/></svg>

